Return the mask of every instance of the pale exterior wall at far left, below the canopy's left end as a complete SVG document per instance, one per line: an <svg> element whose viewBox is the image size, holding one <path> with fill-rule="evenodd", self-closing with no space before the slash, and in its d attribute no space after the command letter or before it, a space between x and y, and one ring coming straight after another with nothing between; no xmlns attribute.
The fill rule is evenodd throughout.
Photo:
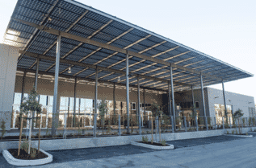
<svg viewBox="0 0 256 168"><path fill-rule="evenodd" d="M6 130L10 130L18 57L19 47L0 44L0 121L6 121Z"/></svg>

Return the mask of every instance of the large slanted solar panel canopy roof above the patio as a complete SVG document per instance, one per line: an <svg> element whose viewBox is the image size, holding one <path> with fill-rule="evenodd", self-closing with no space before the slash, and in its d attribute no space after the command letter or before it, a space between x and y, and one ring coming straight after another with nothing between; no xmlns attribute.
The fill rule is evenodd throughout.
<svg viewBox="0 0 256 168"><path fill-rule="evenodd" d="M36 57L31 55L40 55L39 71L54 74L55 62L52 58L56 56L57 35L47 30L86 39L84 43L70 36L61 37L60 74L63 76L94 80L97 66L99 80L125 84L125 73L122 73L126 65L124 51L132 53L129 55L129 83L137 84L139 75L141 87L167 90L170 80L168 65L174 70L175 91L188 89L191 85L199 87L200 74L204 77L204 86L253 76L212 56L73 0L17 2L4 43L22 47L18 70L36 70ZM71 73L68 73L69 68Z"/></svg>

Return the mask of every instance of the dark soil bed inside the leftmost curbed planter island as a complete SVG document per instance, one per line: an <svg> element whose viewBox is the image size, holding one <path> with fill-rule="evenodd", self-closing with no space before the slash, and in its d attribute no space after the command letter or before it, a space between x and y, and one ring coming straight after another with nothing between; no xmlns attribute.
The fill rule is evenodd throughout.
<svg viewBox="0 0 256 168"><path fill-rule="evenodd" d="M23 160L35 160L35 159L40 159L40 158L47 158L48 156L41 151L39 154L37 153L38 150L36 150L36 158L31 158L30 154L27 154L25 150L20 150L20 154L18 156L18 149L10 149L8 150L10 154L17 159L23 159Z"/></svg>

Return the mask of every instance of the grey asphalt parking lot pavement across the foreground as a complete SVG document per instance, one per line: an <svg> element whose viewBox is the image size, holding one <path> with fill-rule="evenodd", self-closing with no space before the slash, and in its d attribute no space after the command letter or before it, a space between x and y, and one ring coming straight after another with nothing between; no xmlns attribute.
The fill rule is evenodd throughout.
<svg viewBox="0 0 256 168"><path fill-rule="evenodd" d="M250 133L249 133L250 134ZM256 134L253 133L255 136ZM256 137L205 137L169 141L175 150L134 145L48 151L53 162L30 167L256 167ZM192 146L194 145L194 146ZM187 147L190 146L190 147ZM0 155L0 165L10 166Z"/></svg>

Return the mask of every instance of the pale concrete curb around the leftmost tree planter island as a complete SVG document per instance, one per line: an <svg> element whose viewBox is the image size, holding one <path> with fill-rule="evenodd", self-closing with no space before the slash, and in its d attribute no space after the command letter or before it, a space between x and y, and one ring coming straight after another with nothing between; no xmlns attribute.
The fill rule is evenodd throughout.
<svg viewBox="0 0 256 168"><path fill-rule="evenodd" d="M41 158L36 160L17 159L17 158L14 158L8 150L3 150L2 155L10 165L15 165L15 166L36 166L36 165L44 165L46 163L52 162L52 154L48 154L44 150L40 150L40 151L48 155L48 158Z"/></svg>

